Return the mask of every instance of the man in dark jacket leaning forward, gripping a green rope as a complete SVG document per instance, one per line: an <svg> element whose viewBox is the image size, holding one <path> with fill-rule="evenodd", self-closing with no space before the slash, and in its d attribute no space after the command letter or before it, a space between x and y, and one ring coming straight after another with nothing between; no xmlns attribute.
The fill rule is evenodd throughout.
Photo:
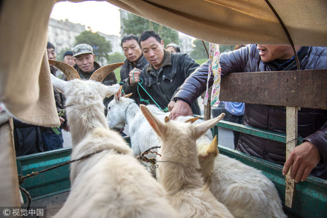
<svg viewBox="0 0 327 218"><path fill-rule="evenodd" d="M135 92L136 84L143 80L142 86L147 93L164 110L173 107L173 96L184 80L199 66L185 53L170 53L164 49L163 41L154 31L145 31L139 38L139 44L146 60L149 62L141 74L137 71L130 73L129 86L126 93ZM139 88L141 97L155 103L144 91ZM190 104L191 105L191 104ZM192 102L192 113L200 115L197 101Z"/></svg>

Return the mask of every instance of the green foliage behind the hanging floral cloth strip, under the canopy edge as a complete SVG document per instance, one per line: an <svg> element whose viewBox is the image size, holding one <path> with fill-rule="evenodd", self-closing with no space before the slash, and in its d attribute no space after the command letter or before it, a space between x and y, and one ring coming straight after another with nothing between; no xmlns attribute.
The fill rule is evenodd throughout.
<svg viewBox="0 0 327 218"><path fill-rule="evenodd" d="M195 39L193 41L194 49L191 51L190 56L193 59L208 59L208 55L206 52L205 47L203 46L203 43L199 39ZM207 49L209 49L209 42L205 42ZM234 50L235 45L219 45L219 51L222 52L228 52Z"/></svg>

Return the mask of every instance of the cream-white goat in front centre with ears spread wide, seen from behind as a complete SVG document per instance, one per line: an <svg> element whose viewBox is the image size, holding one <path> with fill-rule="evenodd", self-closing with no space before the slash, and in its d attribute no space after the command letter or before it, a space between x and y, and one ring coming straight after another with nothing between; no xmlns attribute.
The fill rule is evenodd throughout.
<svg viewBox="0 0 327 218"><path fill-rule="evenodd" d="M199 171L196 139L215 125L224 114L200 124L185 122L162 123L144 105L141 111L161 138L159 180L167 191L170 204L183 217L233 217L230 211L212 195Z"/></svg>

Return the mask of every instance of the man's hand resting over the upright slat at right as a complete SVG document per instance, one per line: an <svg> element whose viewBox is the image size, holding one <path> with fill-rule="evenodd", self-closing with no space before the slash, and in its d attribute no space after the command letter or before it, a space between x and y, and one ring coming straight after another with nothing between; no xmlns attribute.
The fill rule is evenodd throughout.
<svg viewBox="0 0 327 218"><path fill-rule="evenodd" d="M318 149L311 142L304 142L296 146L291 152L289 158L286 160L283 168L283 175L285 176L291 168L291 178L295 182L305 181L313 168L315 168L320 161L320 153ZM292 167L291 167L292 166Z"/></svg>

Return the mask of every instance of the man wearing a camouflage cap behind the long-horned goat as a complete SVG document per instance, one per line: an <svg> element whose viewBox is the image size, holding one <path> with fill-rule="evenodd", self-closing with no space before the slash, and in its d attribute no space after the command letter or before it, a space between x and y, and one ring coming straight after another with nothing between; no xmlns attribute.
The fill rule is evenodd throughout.
<svg viewBox="0 0 327 218"><path fill-rule="evenodd" d="M81 79L89 79L94 73L95 70L100 68L100 65L95 62L95 55L93 53L93 48L91 45L88 44L78 44L76 45L73 50L73 58L76 62L77 72L79 73ZM110 72L102 81L102 84L106 86L111 86L112 84L116 84L117 79L115 73L112 71ZM107 106L108 103L113 99L113 96L110 98L105 98L105 115L107 115Z"/></svg>

